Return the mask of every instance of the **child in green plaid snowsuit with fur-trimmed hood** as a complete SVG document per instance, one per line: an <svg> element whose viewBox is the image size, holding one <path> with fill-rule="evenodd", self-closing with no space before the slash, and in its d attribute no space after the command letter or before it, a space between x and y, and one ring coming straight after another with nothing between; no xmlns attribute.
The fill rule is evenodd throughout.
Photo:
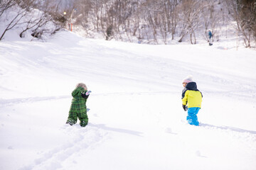
<svg viewBox="0 0 256 170"><path fill-rule="evenodd" d="M86 101L89 97L87 92L87 86L80 83L76 86L72 92L72 103L68 114L68 120L66 124L74 125L77 120L80 120L80 126L85 127L88 123Z"/></svg>

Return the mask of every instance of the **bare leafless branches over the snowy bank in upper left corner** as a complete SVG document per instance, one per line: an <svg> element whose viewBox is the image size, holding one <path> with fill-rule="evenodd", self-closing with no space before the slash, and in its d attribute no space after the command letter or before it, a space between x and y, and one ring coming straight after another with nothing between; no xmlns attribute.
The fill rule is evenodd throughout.
<svg viewBox="0 0 256 170"><path fill-rule="evenodd" d="M21 38L24 37L28 30L31 30L33 37L40 38L44 33L53 34L64 26L65 21L61 22L62 18L58 17L60 16L58 15L58 6L51 4L51 1L40 3L33 0L10 0L9 2L9 10L6 10L7 24L4 32L1 33L0 40L4 38L8 30L14 27L22 29L20 33ZM11 15L11 11L16 11L16 15ZM52 23L51 27L47 27L47 24L50 22Z"/></svg>

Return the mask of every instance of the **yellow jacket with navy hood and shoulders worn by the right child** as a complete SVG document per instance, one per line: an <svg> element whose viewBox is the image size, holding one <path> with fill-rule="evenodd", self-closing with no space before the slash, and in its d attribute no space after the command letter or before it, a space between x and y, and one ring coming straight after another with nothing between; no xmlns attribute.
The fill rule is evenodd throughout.
<svg viewBox="0 0 256 170"><path fill-rule="evenodd" d="M198 91L196 82L190 82L182 91L182 104L188 105L188 108L201 108L203 95Z"/></svg>

